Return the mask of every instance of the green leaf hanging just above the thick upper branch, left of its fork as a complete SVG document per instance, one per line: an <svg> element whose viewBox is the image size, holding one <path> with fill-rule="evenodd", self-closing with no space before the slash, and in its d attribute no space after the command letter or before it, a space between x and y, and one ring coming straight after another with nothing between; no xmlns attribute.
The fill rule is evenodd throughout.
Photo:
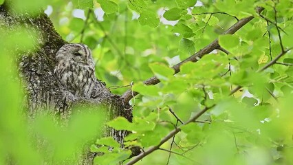
<svg viewBox="0 0 293 165"><path fill-rule="evenodd" d="M180 57L182 59L185 59L188 56L191 56L192 54L195 53L195 43L193 41L183 38L179 42L178 50L179 52L182 52L182 54L180 54Z"/></svg>

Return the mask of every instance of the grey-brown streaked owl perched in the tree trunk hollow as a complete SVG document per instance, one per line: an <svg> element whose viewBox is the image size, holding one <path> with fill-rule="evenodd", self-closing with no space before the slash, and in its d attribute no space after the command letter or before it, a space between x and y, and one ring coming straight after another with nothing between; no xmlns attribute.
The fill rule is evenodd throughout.
<svg viewBox="0 0 293 165"><path fill-rule="evenodd" d="M91 50L82 43L65 44L56 53L54 74L65 89L89 98L96 82Z"/></svg>

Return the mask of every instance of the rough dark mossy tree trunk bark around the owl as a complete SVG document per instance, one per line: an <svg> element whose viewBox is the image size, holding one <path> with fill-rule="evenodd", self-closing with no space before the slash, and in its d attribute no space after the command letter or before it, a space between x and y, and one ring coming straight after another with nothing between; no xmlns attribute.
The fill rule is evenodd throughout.
<svg viewBox="0 0 293 165"><path fill-rule="evenodd" d="M107 107L107 119L123 116L131 122L132 112L128 103L120 96L111 94L107 87L96 85L93 97L80 98L63 89L56 80L53 69L55 54L66 41L54 30L52 22L43 11L36 16L27 13L16 13L7 3L0 5L0 30L5 28L16 31L15 27L21 25L30 34L39 33L36 41L36 51L21 52L19 58L19 71L21 80L26 89L28 116L34 118L38 111L50 109L49 113L67 120L75 104L96 104ZM97 82L100 80L97 80ZM111 135L122 145L126 131L116 131L107 128L106 135ZM87 154L79 164L91 164L94 153Z"/></svg>

